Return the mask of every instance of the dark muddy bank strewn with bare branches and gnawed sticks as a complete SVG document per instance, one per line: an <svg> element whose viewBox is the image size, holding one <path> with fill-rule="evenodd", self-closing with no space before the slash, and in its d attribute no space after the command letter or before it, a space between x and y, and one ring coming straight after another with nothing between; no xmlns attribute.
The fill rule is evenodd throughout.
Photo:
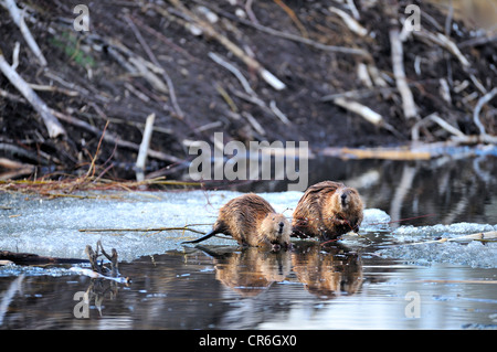
<svg viewBox="0 0 497 352"><path fill-rule="evenodd" d="M134 0L88 2L87 18L73 2L0 1L4 179L157 178L214 131L315 148L497 141L497 35L453 8Z"/></svg>

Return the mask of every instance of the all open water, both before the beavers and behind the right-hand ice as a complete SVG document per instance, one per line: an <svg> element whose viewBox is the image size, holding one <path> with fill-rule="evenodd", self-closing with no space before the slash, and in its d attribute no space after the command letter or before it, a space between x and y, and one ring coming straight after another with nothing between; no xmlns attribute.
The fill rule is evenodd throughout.
<svg viewBox="0 0 497 352"><path fill-rule="evenodd" d="M178 247L120 263L128 285L74 275L67 266L0 267L0 329L496 329L496 266L377 253L400 226L495 226L496 167L494 157L311 161L309 184L341 180L392 221L431 216L369 230L366 238L298 241L292 252ZM93 292L89 305L84 292Z"/></svg>

